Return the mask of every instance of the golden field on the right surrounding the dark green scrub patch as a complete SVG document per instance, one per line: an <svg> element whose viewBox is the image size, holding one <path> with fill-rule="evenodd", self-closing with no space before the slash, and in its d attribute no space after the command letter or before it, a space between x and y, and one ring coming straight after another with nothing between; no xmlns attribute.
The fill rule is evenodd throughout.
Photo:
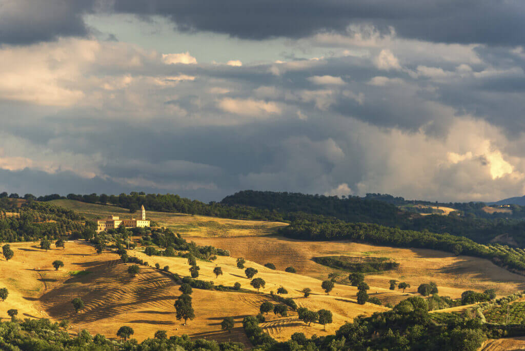
<svg viewBox="0 0 525 351"><path fill-rule="evenodd" d="M407 288L406 293L412 294L417 294L419 284L433 281L437 283L440 295L450 297L459 297L465 290L484 291L494 288L498 294L507 295L525 289L525 276L511 273L488 260L454 256L443 251L268 236L192 240L199 245L213 245L229 250L234 257L245 257L260 264L274 263L278 270L293 266L297 273L318 279L327 278L330 272L339 272L341 277L348 276L348 272L317 264L312 261L312 257L348 255L392 258L400 263L398 269L365 275L365 281L371 286L371 296L377 291L376 296L384 302L397 302L403 298L398 290L388 290L388 281L391 279L409 283L411 287Z"/></svg>

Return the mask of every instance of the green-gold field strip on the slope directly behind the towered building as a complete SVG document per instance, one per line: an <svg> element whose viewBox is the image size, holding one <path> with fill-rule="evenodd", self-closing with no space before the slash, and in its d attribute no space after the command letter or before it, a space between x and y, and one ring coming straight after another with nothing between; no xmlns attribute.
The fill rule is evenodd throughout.
<svg viewBox="0 0 525 351"><path fill-rule="evenodd" d="M131 214L128 209L117 206L86 203L75 200L53 200L54 205L74 210L89 219L106 218L118 215L121 219L131 219L138 214ZM146 209L146 218L160 226L170 228L186 236L257 236L275 234L276 230L288 224L271 221L233 220L184 213L155 212Z"/></svg>

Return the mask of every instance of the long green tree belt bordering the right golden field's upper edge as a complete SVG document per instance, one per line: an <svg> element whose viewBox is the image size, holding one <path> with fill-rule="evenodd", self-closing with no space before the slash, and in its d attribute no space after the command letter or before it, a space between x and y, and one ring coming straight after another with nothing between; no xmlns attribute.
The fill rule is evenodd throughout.
<svg viewBox="0 0 525 351"><path fill-rule="evenodd" d="M350 239L379 245L442 250L456 255L463 254L489 259L497 265L520 273L525 271L525 260L522 254L502 251L500 245L482 245L461 236L432 233L426 230L418 232L388 228L378 224L346 223L339 220L320 223L297 220L279 229L279 232L294 239Z"/></svg>

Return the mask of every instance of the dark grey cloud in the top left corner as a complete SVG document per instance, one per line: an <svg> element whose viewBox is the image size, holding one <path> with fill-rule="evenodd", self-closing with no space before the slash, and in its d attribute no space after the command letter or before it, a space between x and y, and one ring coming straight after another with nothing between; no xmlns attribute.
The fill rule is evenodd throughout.
<svg viewBox="0 0 525 351"><path fill-rule="evenodd" d="M95 0L0 0L0 44L27 45L62 36L86 36L82 15Z"/></svg>

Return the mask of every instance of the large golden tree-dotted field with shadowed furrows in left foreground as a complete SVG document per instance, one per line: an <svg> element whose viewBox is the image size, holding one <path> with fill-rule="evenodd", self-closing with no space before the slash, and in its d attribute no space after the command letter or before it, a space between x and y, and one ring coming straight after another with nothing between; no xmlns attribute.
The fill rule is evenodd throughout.
<svg viewBox="0 0 525 351"><path fill-rule="evenodd" d="M258 293L249 285L244 270L236 266L233 257L218 257L212 262L198 261L201 267L199 279L213 281L215 285L232 286L239 282L246 292L218 292L194 289L193 307L196 318L183 325L175 318L175 299L181 293L179 285L162 272L140 266L136 277L127 273L129 264L123 264L118 256L105 252L95 253L93 247L82 242L67 242L66 249L40 250L38 243L12 244L15 256L9 261L0 260L0 287L7 287L9 296L0 304L0 316L7 319L7 310L18 309L18 317L46 317L54 321L69 319L71 332L88 329L91 334L101 333L117 338L116 332L123 325L131 326L134 338L142 340L151 337L155 331L164 329L169 335L188 334L193 338L212 338L219 342L232 340L249 346L242 328L242 319L247 315L259 313L264 301L271 301L267 294L285 286L299 306L318 310L330 309L333 323L326 331L319 324L310 327L299 321L295 312L287 317L276 317L270 313L261 325L270 335L286 340L295 332L325 335L334 333L345 321L359 314L371 315L385 311L385 307L366 303L359 305L353 300L355 287L336 285L330 295L321 290L321 281L298 274L273 271L256 263L247 261L246 266L255 267L266 281L265 288ZM170 271L181 275L188 274L185 259L180 257L148 257L141 251L130 251L151 265L168 265ZM65 267L54 270L51 262L61 260ZM224 272L216 278L213 268L219 265ZM71 272L75 274L71 275ZM312 295L304 298L300 290L312 289ZM264 292L264 294L263 294ZM85 308L75 313L71 300L80 297ZM274 302L275 303L275 302ZM232 333L220 330L224 317L232 316L235 326Z"/></svg>

